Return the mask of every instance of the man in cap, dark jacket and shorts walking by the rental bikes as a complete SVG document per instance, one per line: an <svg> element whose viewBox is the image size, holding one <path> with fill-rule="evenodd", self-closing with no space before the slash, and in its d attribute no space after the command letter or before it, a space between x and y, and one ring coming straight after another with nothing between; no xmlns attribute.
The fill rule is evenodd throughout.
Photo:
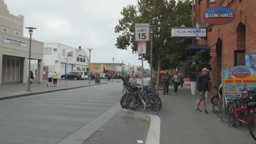
<svg viewBox="0 0 256 144"><path fill-rule="evenodd" d="M199 109L199 105L202 101L203 104L203 109L205 114L208 114L206 108L205 108L205 91L208 91L209 89L209 82L208 79L206 77L206 75L208 75L208 72L210 70L208 70L207 68L203 68L202 70L202 74L199 75L198 79L197 79L197 90L199 91L199 98L197 99L197 103L196 103L196 107L195 107L195 111L196 112L202 112Z"/></svg>

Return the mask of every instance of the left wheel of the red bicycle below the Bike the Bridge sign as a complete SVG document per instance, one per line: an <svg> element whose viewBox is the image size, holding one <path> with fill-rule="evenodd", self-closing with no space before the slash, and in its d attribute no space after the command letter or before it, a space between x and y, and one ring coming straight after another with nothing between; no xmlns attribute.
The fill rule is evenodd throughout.
<svg viewBox="0 0 256 144"><path fill-rule="evenodd" d="M229 125L235 125L236 122L236 114L235 114L235 103L233 102L228 102L227 103L227 123Z"/></svg>

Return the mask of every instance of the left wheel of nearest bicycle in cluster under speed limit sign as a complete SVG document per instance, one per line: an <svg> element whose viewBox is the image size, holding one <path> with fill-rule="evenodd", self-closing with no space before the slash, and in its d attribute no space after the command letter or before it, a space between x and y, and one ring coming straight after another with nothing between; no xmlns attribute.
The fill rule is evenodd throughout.
<svg viewBox="0 0 256 144"><path fill-rule="evenodd" d="M139 96L131 96L131 98L129 98L127 101L127 106L133 111L139 111L143 107L142 101Z"/></svg>

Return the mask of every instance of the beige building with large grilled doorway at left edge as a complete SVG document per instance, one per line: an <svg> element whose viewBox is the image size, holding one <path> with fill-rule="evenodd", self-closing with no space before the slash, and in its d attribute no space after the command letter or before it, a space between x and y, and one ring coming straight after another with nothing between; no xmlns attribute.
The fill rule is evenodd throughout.
<svg viewBox="0 0 256 144"><path fill-rule="evenodd" d="M23 37L24 16L9 13L0 0L0 84L27 83L29 38ZM31 59L37 62L37 82L42 82L43 42L32 40Z"/></svg>

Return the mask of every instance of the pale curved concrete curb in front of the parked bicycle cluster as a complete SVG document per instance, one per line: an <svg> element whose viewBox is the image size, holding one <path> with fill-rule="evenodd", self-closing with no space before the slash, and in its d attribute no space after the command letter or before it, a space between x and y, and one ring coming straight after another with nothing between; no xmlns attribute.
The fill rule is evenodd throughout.
<svg viewBox="0 0 256 144"><path fill-rule="evenodd" d="M134 112L127 109L121 109L120 113L127 117L139 118L150 122L147 140L145 144L160 144L160 124L161 119L157 115L149 115L144 112Z"/></svg>

